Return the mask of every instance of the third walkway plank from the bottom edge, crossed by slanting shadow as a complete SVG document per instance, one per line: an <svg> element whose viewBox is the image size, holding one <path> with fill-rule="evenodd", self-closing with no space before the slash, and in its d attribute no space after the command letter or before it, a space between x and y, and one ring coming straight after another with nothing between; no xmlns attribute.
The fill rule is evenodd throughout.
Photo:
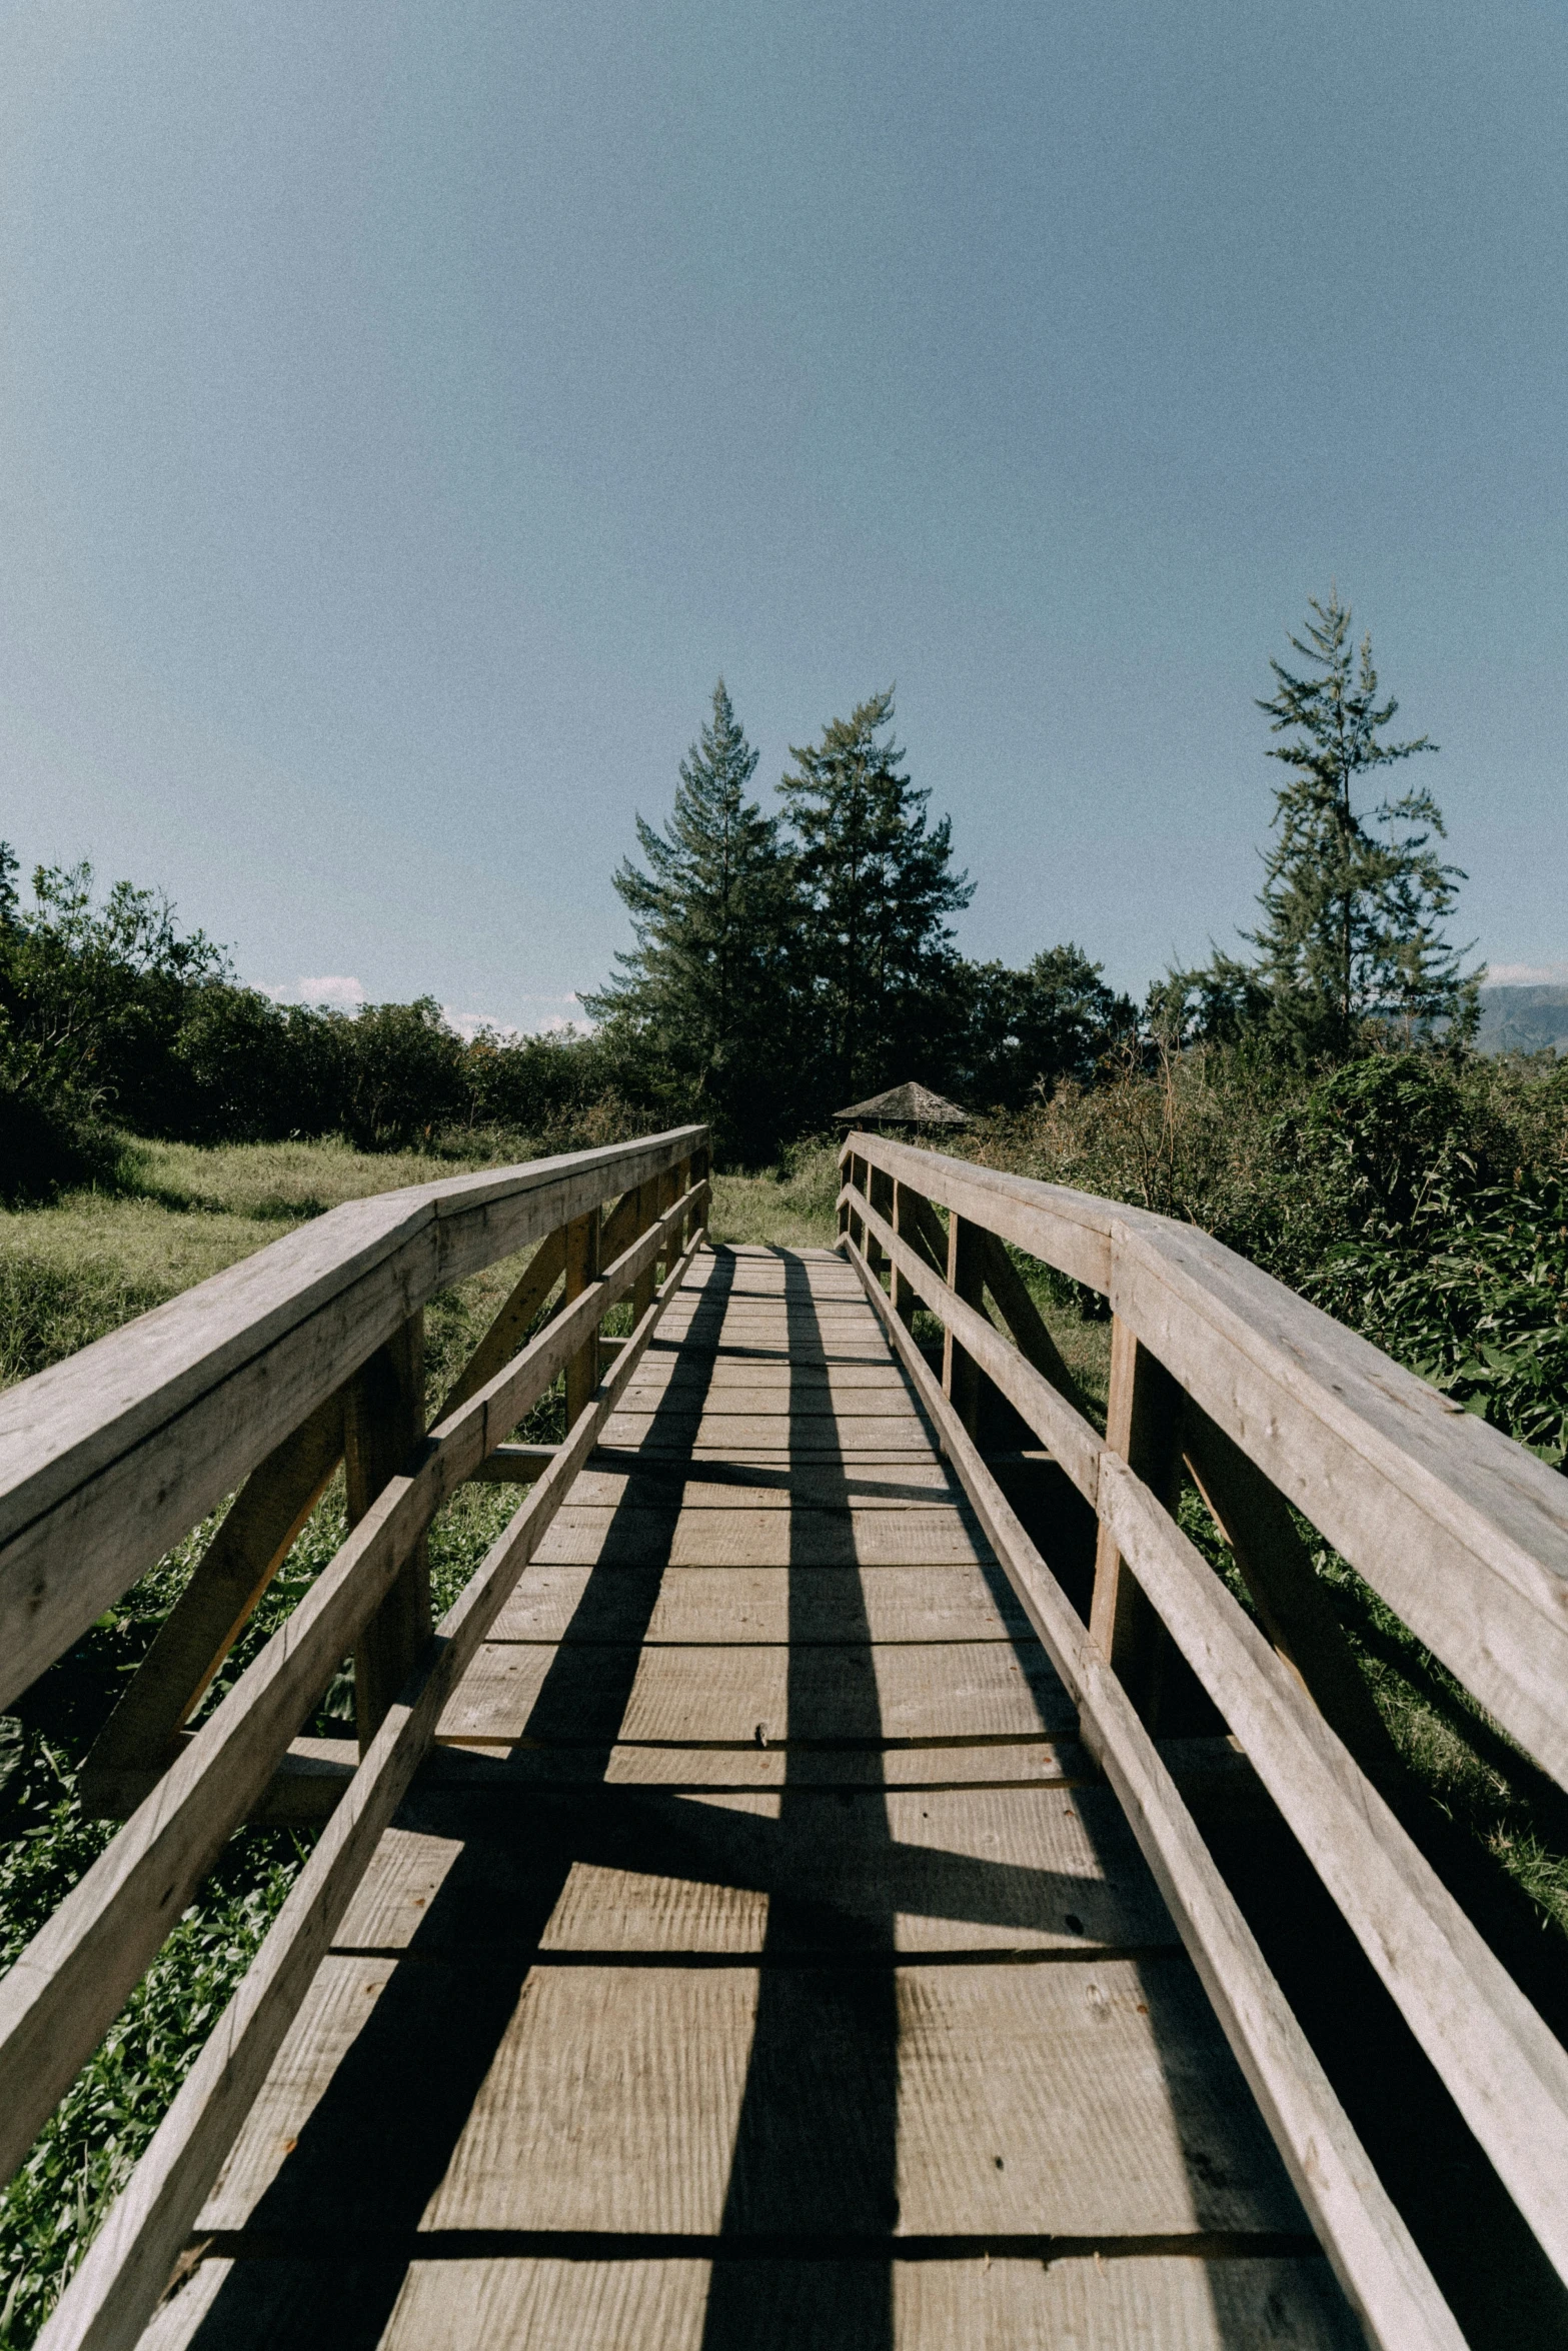
<svg viewBox="0 0 1568 2351"><path fill-rule="evenodd" d="M512 1784L498 1808L421 1782L400 1822L339 1925L343 1954L414 1949L463 1970L536 1954L677 1963L766 1944L785 1963L835 1944L842 1956L846 1933L896 1958L1180 1949L1105 1787L860 1789L780 1806L766 1789ZM809 1907L780 1925L771 1904L804 1893ZM266 2142L256 2125L249 2135ZM242 2226L244 2210L209 2222Z"/></svg>

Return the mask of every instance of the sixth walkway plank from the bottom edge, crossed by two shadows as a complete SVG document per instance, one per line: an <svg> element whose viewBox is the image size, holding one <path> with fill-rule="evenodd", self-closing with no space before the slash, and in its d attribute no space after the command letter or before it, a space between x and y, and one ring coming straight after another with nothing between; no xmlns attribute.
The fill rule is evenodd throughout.
<svg viewBox="0 0 1568 2351"><path fill-rule="evenodd" d="M567 1512L562 1512L567 1516ZM559 1531L559 1519L557 1519ZM649 1615L646 1580L541 1547L496 1617L496 1641L1001 1641L1027 1632L1006 1585L983 1568L670 1566ZM588 1589L592 1582L592 1592ZM574 1617L581 1620L574 1625ZM646 1625L646 1632L644 1632Z"/></svg>

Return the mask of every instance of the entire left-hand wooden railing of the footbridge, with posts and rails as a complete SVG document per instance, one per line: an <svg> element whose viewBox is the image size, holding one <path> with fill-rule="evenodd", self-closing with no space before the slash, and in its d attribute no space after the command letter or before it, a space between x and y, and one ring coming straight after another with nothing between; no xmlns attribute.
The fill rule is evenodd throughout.
<svg viewBox="0 0 1568 2351"><path fill-rule="evenodd" d="M679 1286L705 1204L703 1126L383 1192L0 1396L0 1704L237 1488L82 1770L89 1806L129 1820L0 1982L0 2179L228 1836L329 1815L47 2342L136 2339L447 1695ZM425 1432L425 1302L529 1244ZM623 1300L630 1338L604 1342ZM564 1444L505 1444L562 1373ZM339 1465L341 1549L186 1730ZM425 1531L473 1476L531 1491L433 1629ZM350 1742L296 1733L350 1653L357 1759L331 1761Z"/></svg>

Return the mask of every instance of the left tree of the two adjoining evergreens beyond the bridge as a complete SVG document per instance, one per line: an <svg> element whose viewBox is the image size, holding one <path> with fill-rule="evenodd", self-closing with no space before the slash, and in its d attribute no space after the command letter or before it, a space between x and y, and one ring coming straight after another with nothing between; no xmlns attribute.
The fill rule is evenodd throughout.
<svg viewBox="0 0 1568 2351"><path fill-rule="evenodd" d="M670 830L639 816L646 872L628 858L614 877L637 945L583 999L592 1018L635 1030L741 1157L776 1143L790 1027L790 858L778 818L745 797L755 769L719 679L712 719L679 764Z"/></svg>

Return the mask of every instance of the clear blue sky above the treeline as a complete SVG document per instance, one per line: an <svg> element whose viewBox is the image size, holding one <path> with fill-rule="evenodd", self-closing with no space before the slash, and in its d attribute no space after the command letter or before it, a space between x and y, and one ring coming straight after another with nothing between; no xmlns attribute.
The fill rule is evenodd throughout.
<svg viewBox="0 0 1568 2351"><path fill-rule="evenodd" d="M0 835L242 973L534 1025L724 672L889 679L959 938L1143 987L1371 625L1568 976L1568 19L0 7Z"/></svg>

